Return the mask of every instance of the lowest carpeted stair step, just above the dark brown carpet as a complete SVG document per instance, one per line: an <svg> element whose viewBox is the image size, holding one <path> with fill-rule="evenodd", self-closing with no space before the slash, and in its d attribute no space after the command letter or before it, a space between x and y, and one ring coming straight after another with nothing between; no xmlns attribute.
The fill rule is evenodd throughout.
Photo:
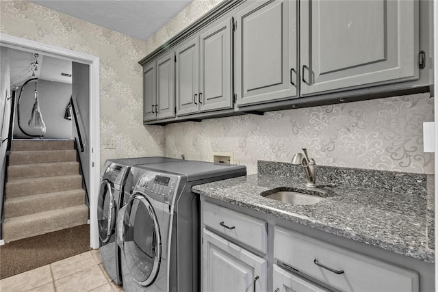
<svg viewBox="0 0 438 292"><path fill-rule="evenodd" d="M87 224L87 220L88 207L85 204L8 218L3 222L3 239L5 243L9 243L18 239Z"/></svg>

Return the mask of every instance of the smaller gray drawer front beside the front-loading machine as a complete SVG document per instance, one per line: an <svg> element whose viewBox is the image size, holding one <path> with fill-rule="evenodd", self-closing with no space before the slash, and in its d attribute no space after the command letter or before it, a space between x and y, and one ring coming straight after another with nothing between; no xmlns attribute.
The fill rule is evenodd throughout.
<svg viewBox="0 0 438 292"><path fill-rule="evenodd" d="M203 203L203 220L205 226L219 233L236 239L264 254L268 251L268 231L266 222L263 220L209 202Z"/></svg>

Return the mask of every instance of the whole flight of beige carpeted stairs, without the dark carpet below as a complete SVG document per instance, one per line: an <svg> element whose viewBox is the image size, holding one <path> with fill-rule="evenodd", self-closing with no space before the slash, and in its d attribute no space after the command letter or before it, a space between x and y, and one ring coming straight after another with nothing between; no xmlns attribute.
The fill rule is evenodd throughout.
<svg viewBox="0 0 438 292"><path fill-rule="evenodd" d="M5 186L5 243L87 224L73 140L14 140Z"/></svg>

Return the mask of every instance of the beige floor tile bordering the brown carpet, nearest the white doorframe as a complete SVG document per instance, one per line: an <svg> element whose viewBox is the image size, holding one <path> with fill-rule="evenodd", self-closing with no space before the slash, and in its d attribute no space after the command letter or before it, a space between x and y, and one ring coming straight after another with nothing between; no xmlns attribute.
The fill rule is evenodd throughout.
<svg viewBox="0 0 438 292"><path fill-rule="evenodd" d="M94 260L91 252L83 252L77 256L72 256L62 261L51 263L50 265L53 271L53 278L55 278L55 280L75 274L77 271L92 267L93 265L97 267L96 261Z"/></svg>

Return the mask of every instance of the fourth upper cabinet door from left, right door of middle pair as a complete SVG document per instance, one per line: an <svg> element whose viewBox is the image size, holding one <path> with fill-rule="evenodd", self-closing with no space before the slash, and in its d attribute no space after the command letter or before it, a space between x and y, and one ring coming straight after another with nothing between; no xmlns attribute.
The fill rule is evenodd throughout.
<svg viewBox="0 0 438 292"><path fill-rule="evenodd" d="M201 111L229 109L232 105L231 19L201 34Z"/></svg>

